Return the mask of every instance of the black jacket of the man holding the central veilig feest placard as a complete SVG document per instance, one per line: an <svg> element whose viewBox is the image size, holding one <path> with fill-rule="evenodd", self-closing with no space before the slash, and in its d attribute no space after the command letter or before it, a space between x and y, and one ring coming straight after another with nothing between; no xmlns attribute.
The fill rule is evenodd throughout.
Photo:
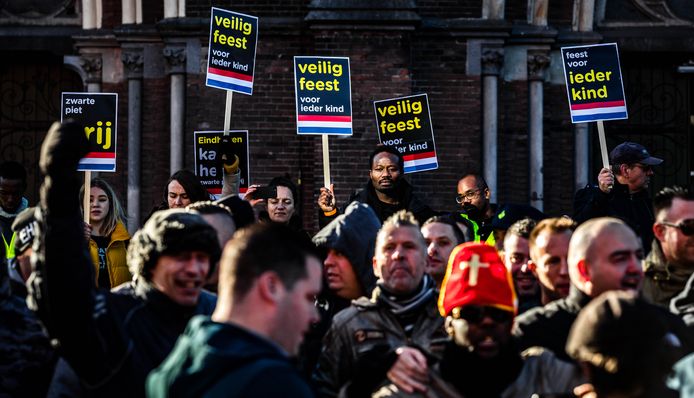
<svg viewBox="0 0 694 398"><path fill-rule="evenodd" d="M398 210L407 210L414 214L417 221L423 224L429 217L436 215L436 213L422 202L418 197L412 192L412 185L410 185L407 180L400 177L400 182L398 183L396 196L398 198L398 205L389 205L387 203L381 202L376 195L376 190L371 184L371 180L367 181L364 187L353 193L347 203L352 203L354 201L366 203L371 206L376 217L378 217L381 222L384 222L388 217L395 214ZM344 213L346 206L342 208L341 213ZM337 214L332 216L326 216L322 211L319 212L318 224L321 228L326 226L330 221L332 221Z"/></svg>

